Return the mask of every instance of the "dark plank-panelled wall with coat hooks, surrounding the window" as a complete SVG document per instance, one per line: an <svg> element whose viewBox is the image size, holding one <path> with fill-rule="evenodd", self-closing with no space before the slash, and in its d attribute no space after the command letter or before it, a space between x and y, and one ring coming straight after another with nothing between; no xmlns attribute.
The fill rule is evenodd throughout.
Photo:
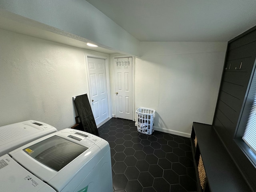
<svg viewBox="0 0 256 192"><path fill-rule="evenodd" d="M256 168L236 143L236 132L247 98L256 58L256 27L228 42L213 127L251 188Z"/></svg>

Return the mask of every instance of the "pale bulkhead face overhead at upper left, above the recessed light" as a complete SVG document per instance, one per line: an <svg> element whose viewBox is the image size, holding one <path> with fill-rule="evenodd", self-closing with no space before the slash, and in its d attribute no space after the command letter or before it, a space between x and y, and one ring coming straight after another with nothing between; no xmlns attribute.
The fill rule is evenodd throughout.
<svg viewBox="0 0 256 192"><path fill-rule="evenodd" d="M1 0L0 16L139 55L140 42L86 0Z"/></svg>

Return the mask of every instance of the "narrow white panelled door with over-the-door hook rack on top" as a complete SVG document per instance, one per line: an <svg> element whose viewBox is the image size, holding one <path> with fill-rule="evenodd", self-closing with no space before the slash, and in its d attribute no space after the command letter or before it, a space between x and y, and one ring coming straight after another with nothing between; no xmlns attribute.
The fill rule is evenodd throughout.
<svg viewBox="0 0 256 192"><path fill-rule="evenodd" d="M116 117L132 120L132 57L114 58Z"/></svg>

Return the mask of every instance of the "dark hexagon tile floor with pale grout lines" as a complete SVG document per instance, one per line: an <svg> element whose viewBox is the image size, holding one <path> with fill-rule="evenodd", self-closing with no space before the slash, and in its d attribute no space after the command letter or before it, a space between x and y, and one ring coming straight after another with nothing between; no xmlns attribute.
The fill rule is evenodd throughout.
<svg viewBox="0 0 256 192"><path fill-rule="evenodd" d="M112 118L98 128L111 148L114 192L197 192L190 139L137 132L131 120Z"/></svg>

